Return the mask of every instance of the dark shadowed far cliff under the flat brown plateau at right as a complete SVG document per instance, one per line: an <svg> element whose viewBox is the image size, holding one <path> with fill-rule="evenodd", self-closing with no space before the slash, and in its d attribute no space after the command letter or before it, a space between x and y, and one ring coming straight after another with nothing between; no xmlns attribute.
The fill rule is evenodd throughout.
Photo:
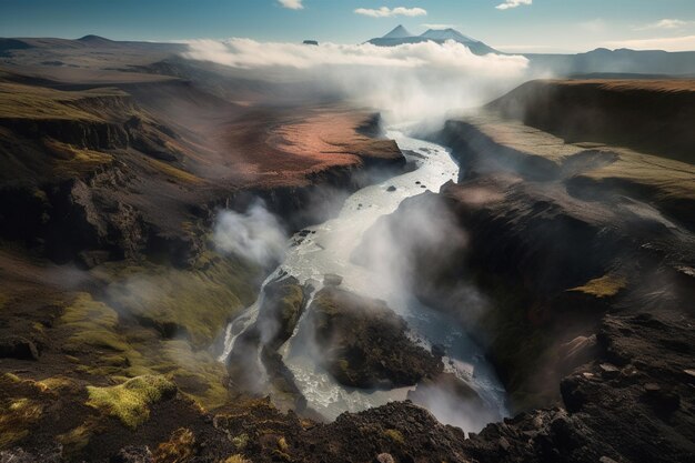
<svg viewBox="0 0 695 463"><path fill-rule="evenodd" d="M695 163L695 81L525 83L488 105L570 142L601 142Z"/></svg>

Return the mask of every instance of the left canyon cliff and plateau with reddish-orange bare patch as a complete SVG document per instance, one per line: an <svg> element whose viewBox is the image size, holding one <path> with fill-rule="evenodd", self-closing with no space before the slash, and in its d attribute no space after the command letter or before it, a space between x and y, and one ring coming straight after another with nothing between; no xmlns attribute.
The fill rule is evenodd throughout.
<svg viewBox="0 0 695 463"><path fill-rule="evenodd" d="M123 88L0 83L3 238L87 266L143 255L188 265L202 242L182 224L208 227L218 207L261 197L299 229L325 218L302 211L404 163L372 114L326 110L326 134L312 131L329 120L320 110L246 114L190 83Z"/></svg>

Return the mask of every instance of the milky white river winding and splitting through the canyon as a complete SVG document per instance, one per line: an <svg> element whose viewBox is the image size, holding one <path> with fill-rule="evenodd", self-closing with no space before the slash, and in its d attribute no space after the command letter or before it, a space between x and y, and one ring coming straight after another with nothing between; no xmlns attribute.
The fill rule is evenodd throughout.
<svg viewBox="0 0 695 463"><path fill-rule="evenodd" d="M471 385L481 395L486 409L483 413L480 410L466 413L469 409L459 403L459 397L450 397L444 391L434 390L430 392L433 396L427 402L430 411L444 423L460 425L466 432L477 432L485 423L507 415L504 389L481 348L453 320L423 305L407 291L404 292L402 286L384 284L382 275L350 260L364 232L380 217L394 212L406 198L426 190L439 191L445 182L455 181L459 177L459 165L445 148L409 138L397 130L389 131L387 137L396 141L409 161L416 162L417 169L354 192L346 199L336 218L310 227L308 230L312 233L306 236L292 236L284 262L266 281L288 273L301 283L313 280L312 283L320 286L325 274L334 273L343 278L341 288L344 290L386 301L392 310L405 319L412 339L425 346L442 344L446 348L446 371ZM395 190L391 187L395 187ZM253 323L261 302L256 301L230 324L221 360L226 359L233 348L236 336L232 333L239 333ZM312 350L312 335L306 320L305 312L280 353L294 374L308 405L326 419L335 419L345 411L357 412L390 401L405 400L407 392L414 389L372 391L350 389L336 383L314 361L315 352Z"/></svg>

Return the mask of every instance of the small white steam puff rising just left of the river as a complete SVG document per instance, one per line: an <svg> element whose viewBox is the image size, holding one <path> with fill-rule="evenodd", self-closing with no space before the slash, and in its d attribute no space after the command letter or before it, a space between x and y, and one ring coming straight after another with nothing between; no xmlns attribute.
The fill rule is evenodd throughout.
<svg viewBox="0 0 695 463"><path fill-rule="evenodd" d="M282 261L285 231L261 201L246 212L222 211L216 218L214 243L222 252L241 255L263 266Z"/></svg>

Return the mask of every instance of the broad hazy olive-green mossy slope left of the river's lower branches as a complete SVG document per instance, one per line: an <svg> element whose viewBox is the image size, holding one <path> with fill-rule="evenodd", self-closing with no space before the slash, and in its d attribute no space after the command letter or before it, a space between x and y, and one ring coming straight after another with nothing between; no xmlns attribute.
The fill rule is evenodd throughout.
<svg viewBox="0 0 695 463"><path fill-rule="evenodd" d="M94 384L165 375L205 410L229 403L212 346L255 298L259 269L207 252L192 270L112 264L92 273L107 285L103 301L74 294L56 326L77 373Z"/></svg>

